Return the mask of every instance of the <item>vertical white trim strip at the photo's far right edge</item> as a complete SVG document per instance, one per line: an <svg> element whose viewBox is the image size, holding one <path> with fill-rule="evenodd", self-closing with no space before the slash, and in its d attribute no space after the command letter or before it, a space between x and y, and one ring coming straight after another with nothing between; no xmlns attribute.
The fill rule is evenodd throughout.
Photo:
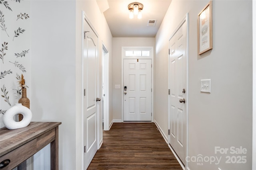
<svg viewBox="0 0 256 170"><path fill-rule="evenodd" d="M252 1L252 170L256 170L256 1Z"/></svg>

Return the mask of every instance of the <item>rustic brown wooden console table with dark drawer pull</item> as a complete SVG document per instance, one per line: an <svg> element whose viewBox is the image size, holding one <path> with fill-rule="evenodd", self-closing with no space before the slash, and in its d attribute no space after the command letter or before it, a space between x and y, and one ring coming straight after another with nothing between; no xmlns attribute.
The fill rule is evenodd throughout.
<svg viewBox="0 0 256 170"><path fill-rule="evenodd" d="M12 170L51 143L51 170L58 170L58 126L61 122L30 122L27 127L0 129L1 170Z"/></svg>

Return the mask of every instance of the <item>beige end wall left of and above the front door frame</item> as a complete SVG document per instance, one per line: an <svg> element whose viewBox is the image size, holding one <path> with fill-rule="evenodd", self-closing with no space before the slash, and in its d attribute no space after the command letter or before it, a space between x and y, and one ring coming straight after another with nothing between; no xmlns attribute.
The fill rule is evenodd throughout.
<svg viewBox="0 0 256 170"><path fill-rule="evenodd" d="M122 84L122 47L155 46L155 38L113 38L113 119L121 121L122 119L122 87L114 89L114 84Z"/></svg>

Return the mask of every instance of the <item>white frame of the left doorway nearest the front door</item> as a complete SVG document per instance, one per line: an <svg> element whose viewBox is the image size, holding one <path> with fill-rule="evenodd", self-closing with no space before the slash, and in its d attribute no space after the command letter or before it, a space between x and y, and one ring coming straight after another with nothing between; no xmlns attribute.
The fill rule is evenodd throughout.
<svg viewBox="0 0 256 170"><path fill-rule="evenodd" d="M103 55L104 53L104 55ZM109 131L109 51L106 45L102 41L102 63L103 73L102 76L104 77L103 84L104 84L104 101L103 101L103 129L104 131ZM102 94L102 95L104 95ZM103 96L102 96L103 98ZM105 107L104 107L105 106Z"/></svg>

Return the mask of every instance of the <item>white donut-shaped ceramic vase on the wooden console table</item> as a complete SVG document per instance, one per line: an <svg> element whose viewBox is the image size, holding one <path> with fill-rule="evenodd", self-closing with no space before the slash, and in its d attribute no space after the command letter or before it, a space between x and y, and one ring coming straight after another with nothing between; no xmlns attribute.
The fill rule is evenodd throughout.
<svg viewBox="0 0 256 170"><path fill-rule="evenodd" d="M21 121L14 120L14 115L17 114L23 115L23 119ZM28 109L28 107L22 106L22 104L17 103L4 113L3 123L7 129L19 129L28 126L31 119L31 110Z"/></svg>

